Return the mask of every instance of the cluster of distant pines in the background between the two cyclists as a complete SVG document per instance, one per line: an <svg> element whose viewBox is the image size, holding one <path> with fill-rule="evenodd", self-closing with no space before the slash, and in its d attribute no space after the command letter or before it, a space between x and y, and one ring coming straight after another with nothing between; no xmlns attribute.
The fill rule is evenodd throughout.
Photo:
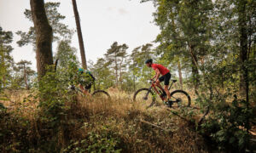
<svg viewBox="0 0 256 153"><path fill-rule="evenodd" d="M96 77L96 87L106 89L115 86L128 92L143 87L153 75L145 65L146 59L155 59L152 46L147 43L127 54L125 44L113 42L105 58L97 59L96 64L90 62L89 69Z"/></svg>

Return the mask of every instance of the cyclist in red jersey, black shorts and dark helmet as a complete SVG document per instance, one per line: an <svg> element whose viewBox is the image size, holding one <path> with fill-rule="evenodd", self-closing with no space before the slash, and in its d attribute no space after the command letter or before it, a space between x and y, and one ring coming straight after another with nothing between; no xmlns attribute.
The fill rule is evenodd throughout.
<svg viewBox="0 0 256 153"><path fill-rule="evenodd" d="M169 86L169 82L170 82L170 79L171 79L171 73L170 71L163 65L159 65L159 64L154 64L153 63L153 59L148 59L146 60L146 65L148 67L152 67L155 71L155 75L154 77L152 78L152 80L155 81L155 85L159 88L161 88L162 90L164 90L167 94L167 101L166 103L169 102L169 99L171 99L171 94L168 90L168 86ZM161 77L160 77L161 75ZM165 88L163 89L162 86L160 85L160 82L165 82Z"/></svg>

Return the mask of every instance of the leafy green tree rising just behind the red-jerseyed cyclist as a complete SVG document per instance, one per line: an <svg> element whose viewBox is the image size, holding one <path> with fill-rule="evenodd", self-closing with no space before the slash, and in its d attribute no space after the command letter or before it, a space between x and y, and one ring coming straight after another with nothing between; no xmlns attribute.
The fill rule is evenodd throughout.
<svg viewBox="0 0 256 153"><path fill-rule="evenodd" d="M203 65L200 61L209 52L212 1L155 0L154 3L157 7L154 21L161 30L156 38L156 42L160 42L158 51L160 54L166 54L163 57L176 59L181 84L181 65L187 65L181 62L190 59L192 79L197 91Z"/></svg>

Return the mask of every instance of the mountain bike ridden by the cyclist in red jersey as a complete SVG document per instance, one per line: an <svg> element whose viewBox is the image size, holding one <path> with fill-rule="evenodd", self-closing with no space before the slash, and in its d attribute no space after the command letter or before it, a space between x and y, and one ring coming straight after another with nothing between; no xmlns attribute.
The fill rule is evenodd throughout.
<svg viewBox="0 0 256 153"><path fill-rule="evenodd" d="M148 82L151 84L151 86L149 88L138 89L137 92L133 95L133 100L141 105L145 105L147 108L153 106L158 99L165 102L167 98L166 92L155 86L154 81L150 80ZM172 80L172 84L168 90L172 88L172 85L175 82L177 82L177 80ZM171 103L172 108L178 108L182 106L189 107L191 105L191 98L189 94L183 90L174 90L171 93L171 101L169 102Z"/></svg>

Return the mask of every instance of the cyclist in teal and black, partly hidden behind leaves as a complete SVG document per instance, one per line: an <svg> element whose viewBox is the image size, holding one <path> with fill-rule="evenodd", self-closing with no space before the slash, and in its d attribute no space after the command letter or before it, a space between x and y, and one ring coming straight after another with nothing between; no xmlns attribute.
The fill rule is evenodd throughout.
<svg viewBox="0 0 256 153"><path fill-rule="evenodd" d="M89 94L91 85L95 82L95 77L91 74L90 71L79 68L79 88L83 91L84 94Z"/></svg>

